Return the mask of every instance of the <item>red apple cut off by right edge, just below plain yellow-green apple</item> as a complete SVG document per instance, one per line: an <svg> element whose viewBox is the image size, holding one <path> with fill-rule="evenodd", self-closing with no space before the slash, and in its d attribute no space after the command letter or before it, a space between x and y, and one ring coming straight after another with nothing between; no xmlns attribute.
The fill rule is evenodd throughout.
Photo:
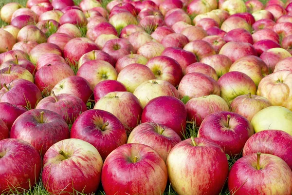
<svg viewBox="0 0 292 195"><path fill-rule="evenodd" d="M265 130L250 137L244 145L243 156L257 152L282 158L292 167L292 136L281 130Z"/></svg>

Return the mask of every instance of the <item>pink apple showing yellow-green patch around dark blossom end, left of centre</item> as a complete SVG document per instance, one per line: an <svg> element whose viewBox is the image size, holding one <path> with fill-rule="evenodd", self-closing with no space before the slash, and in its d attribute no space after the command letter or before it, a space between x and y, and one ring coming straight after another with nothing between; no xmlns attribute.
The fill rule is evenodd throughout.
<svg viewBox="0 0 292 195"><path fill-rule="evenodd" d="M116 80L117 72L114 67L101 59L94 59L85 62L77 71L77 76L85 78L89 83L91 90L102 80Z"/></svg>

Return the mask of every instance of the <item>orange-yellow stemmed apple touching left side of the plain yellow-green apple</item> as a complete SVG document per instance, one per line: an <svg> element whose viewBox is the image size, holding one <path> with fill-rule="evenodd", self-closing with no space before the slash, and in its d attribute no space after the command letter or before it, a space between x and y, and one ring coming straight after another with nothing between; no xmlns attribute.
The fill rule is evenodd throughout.
<svg viewBox="0 0 292 195"><path fill-rule="evenodd" d="M272 106L269 99L248 94L236 97L230 104L230 111L251 121L256 113L269 106Z"/></svg>

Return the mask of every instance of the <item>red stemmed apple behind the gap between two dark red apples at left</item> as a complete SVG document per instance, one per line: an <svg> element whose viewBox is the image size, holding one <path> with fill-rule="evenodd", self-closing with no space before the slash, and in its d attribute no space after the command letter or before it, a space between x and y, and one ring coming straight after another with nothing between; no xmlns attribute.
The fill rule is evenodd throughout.
<svg viewBox="0 0 292 195"><path fill-rule="evenodd" d="M66 120L67 124L73 124L81 113L87 111L85 103L74 95L59 94L55 97L43 98L38 102L36 109L53 111Z"/></svg>

